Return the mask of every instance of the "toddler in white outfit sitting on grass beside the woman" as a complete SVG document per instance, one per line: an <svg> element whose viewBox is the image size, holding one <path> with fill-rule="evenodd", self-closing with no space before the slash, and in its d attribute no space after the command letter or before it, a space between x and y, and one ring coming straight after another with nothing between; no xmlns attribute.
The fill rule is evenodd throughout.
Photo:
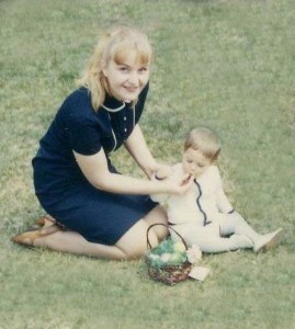
<svg viewBox="0 0 295 329"><path fill-rule="evenodd" d="M222 185L216 166L220 151L217 136L207 128L191 131L185 143L182 163L172 167L169 177L157 172L154 179L179 181L183 174L194 175L194 183L183 195L151 195L162 204L172 226L185 240L188 247L197 245L204 252L223 252L252 248L256 252L274 247L282 228L266 235L253 230L234 209ZM179 237L170 230L173 239Z"/></svg>

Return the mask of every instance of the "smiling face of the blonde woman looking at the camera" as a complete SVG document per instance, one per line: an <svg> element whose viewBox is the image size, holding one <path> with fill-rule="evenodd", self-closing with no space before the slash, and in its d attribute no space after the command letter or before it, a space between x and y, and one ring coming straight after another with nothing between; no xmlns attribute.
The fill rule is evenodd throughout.
<svg viewBox="0 0 295 329"><path fill-rule="evenodd" d="M110 92L120 101L136 101L149 79L149 65L139 64L136 52L122 64L113 59L102 70L109 82Z"/></svg>

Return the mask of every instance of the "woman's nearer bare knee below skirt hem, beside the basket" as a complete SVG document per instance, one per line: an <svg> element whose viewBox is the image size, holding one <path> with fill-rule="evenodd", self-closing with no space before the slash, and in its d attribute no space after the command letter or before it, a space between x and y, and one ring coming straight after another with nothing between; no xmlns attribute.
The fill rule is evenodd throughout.
<svg viewBox="0 0 295 329"><path fill-rule="evenodd" d="M146 253L148 227L149 225L141 219L116 242L116 247L126 254L127 259L136 259ZM149 230L148 239L152 248L158 246L158 237L152 228Z"/></svg>

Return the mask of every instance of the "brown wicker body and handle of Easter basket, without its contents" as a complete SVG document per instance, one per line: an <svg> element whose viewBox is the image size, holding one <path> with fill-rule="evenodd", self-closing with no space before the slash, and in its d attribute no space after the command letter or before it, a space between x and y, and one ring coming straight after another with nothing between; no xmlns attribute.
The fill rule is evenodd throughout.
<svg viewBox="0 0 295 329"><path fill-rule="evenodd" d="M149 234L149 230L156 225L161 225L161 226L168 227L168 225L164 225L164 224L154 224L154 225L149 226L149 228L147 230L147 246L149 249L151 249L151 245L149 241L148 234ZM186 246L184 239L179 235L179 232L177 232L171 226L169 226L169 229L172 229L180 237L183 245L185 246L185 249L188 250L188 246ZM152 249L151 249L151 251L152 251ZM189 273L191 272L191 269L192 269L192 264L189 263L188 261L184 261L183 263L175 264L175 265L171 265L171 264L164 265L163 264L161 266L152 266L148 257L146 257L146 264L148 268L148 274L151 279L154 279L156 281L160 281L168 285L174 285L179 282L182 282L182 281L189 279Z"/></svg>

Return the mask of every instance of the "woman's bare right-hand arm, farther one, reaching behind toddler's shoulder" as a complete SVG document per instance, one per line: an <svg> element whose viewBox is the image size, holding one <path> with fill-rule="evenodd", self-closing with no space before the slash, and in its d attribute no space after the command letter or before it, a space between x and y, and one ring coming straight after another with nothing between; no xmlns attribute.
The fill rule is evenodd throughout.
<svg viewBox="0 0 295 329"><path fill-rule="evenodd" d="M170 173L171 169L169 166L158 163L152 157L138 124L125 141L125 147L148 178L151 178L152 173L159 169L167 171L166 175Z"/></svg>

